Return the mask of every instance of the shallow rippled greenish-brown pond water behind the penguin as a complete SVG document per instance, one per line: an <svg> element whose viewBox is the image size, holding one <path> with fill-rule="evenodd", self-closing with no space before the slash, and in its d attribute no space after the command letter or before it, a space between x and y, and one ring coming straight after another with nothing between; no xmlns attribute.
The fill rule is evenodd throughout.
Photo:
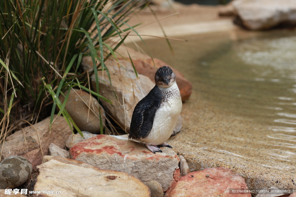
<svg viewBox="0 0 296 197"><path fill-rule="evenodd" d="M295 172L295 30L236 30L180 39L188 42L170 41L174 56L165 40L146 40L153 57L181 71L192 83L192 96L183 104L185 121L180 135L191 135L186 139L196 147L212 148L263 167ZM137 44L148 53L143 43ZM137 50L135 45L129 46ZM194 130L194 124L202 126L202 121L196 120L205 115L198 113L203 109L203 101L219 112L219 117L222 115L230 122L233 117L236 121L239 118L242 126L229 125L218 134L214 130ZM194 115L187 115L186 110ZM207 123L222 125L219 119ZM194 134L197 130L199 135ZM208 143L205 145L204 141Z"/></svg>

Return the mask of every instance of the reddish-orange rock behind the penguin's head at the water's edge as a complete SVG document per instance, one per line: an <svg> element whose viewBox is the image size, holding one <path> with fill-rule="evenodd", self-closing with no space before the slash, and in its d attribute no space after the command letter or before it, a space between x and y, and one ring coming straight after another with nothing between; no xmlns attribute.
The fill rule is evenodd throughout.
<svg viewBox="0 0 296 197"><path fill-rule="evenodd" d="M151 79L152 82L155 82L154 80L154 75L156 72L155 67L156 69L159 69L162 66L169 66L164 61L161 61L157 58L153 58L154 64L155 64L155 67L154 67L152 58L150 56L134 51L133 49L128 47L120 46L116 51L120 53L123 57L129 60L127 50L129 55L131 56L131 59L133 60L133 64L137 72L139 74L149 77L149 79ZM123 57L118 56L118 59L123 59ZM192 91L192 84L187 79L185 79L183 74L181 74L179 71L172 68L171 66L169 67L176 74L176 77L177 77L176 82L178 84L178 88L181 93L182 101L189 99L189 96L191 95L191 91Z"/></svg>

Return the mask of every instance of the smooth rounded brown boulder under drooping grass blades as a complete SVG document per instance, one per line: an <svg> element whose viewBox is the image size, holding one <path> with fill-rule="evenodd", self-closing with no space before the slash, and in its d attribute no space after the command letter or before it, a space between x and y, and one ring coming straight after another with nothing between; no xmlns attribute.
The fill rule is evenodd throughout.
<svg viewBox="0 0 296 197"><path fill-rule="evenodd" d="M91 97L88 92L85 92L80 89L75 89L76 93L71 89L69 93L69 97L67 103L65 105L65 109L78 126L78 128L82 131L88 131L90 133L99 133L100 132L100 115L99 110L101 111L102 123L103 127L105 125L106 115L104 109L96 100L96 98ZM67 95L67 92L64 92L64 95ZM59 96L60 101L63 103L65 97L61 94ZM85 101L86 104L83 102ZM90 102L91 101L91 102ZM89 110L88 105L90 105L90 109L94 110L94 113ZM75 107L73 107L75 106ZM58 109L57 109L58 110Z"/></svg>

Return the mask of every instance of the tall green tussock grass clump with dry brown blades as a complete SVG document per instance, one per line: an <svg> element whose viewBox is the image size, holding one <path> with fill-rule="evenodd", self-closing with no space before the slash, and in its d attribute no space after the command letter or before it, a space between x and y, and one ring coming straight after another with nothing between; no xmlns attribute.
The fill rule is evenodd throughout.
<svg viewBox="0 0 296 197"><path fill-rule="evenodd" d="M92 73L83 71L81 59L90 55L94 70L106 70L109 76L104 61L134 31L128 20L135 8L145 5L137 0L1 0L0 143L23 124L49 115L54 121L56 105L58 115L81 133L64 109L66 102L62 104L58 97L76 87L107 100L90 89ZM114 36L121 41L109 46ZM94 73L93 90L99 92Z"/></svg>

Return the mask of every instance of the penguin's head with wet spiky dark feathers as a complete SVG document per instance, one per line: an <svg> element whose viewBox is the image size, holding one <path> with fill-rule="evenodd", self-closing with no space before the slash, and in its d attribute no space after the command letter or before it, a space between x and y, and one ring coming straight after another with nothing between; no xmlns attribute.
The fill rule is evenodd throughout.
<svg viewBox="0 0 296 197"><path fill-rule="evenodd" d="M156 71L154 79L158 87L167 88L176 81L176 74L170 67L163 66Z"/></svg>

